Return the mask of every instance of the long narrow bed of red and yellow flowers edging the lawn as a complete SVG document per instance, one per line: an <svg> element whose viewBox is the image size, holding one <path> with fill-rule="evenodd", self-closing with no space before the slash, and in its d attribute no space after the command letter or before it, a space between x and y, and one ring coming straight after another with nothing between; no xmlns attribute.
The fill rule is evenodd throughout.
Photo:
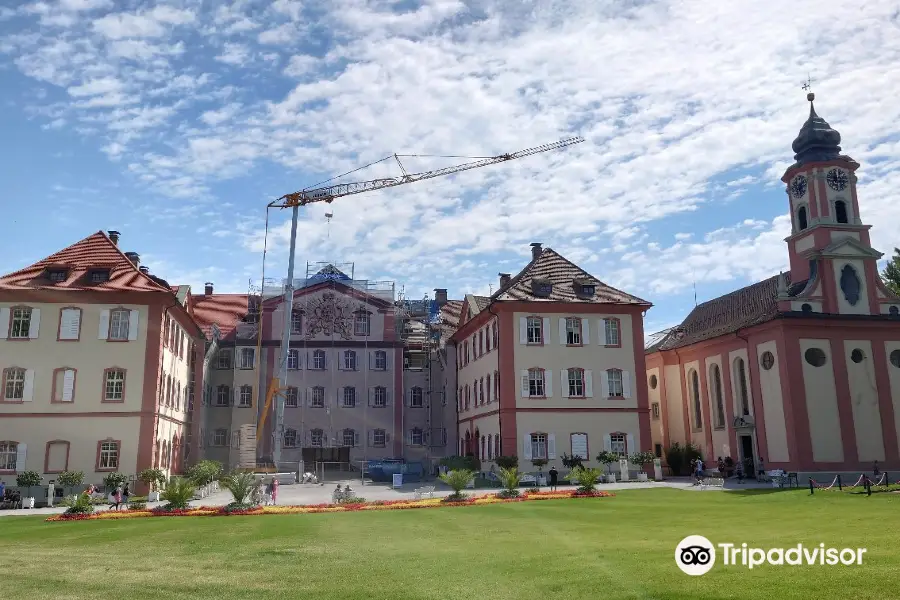
<svg viewBox="0 0 900 600"><path fill-rule="evenodd" d="M104 511L92 514L53 515L48 521L88 521L140 519L147 517L226 517L240 515L301 515L324 512L355 512L361 510L408 510L415 508L440 508L445 506L478 506L482 504L503 504L507 502L533 502L536 500L563 500L567 498L606 498L613 496L609 492L594 491L579 493L534 492L518 498L500 498L496 494L474 496L456 502L446 502L444 498L427 498L424 500L379 500L374 502L348 502L346 504L312 504L307 506L257 506L247 510L234 510L226 506L198 506L186 510L164 511L153 510L120 510Z"/></svg>

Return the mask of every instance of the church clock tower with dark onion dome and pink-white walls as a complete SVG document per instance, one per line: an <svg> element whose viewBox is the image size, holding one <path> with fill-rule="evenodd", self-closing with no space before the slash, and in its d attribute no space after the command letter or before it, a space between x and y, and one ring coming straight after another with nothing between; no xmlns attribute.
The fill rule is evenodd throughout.
<svg viewBox="0 0 900 600"><path fill-rule="evenodd" d="M841 134L816 114L793 143L794 164L781 180L791 209L790 287L780 286L779 308L853 315L897 315L900 298L882 283L882 253L869 241L856 195L859 163L841 154Z"/></svg>

